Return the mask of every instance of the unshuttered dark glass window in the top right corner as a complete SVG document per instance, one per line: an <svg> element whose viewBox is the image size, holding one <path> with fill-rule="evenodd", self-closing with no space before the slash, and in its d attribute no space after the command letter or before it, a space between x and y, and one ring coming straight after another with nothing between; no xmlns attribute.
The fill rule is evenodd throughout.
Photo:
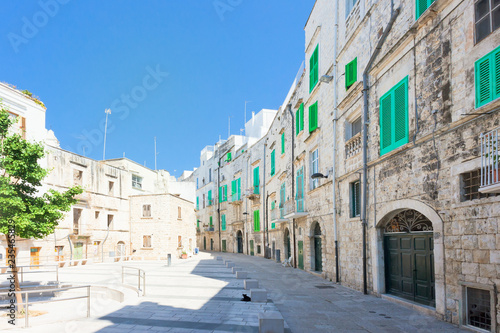
<svg viewBox="0 0 500 333"><path fill-rule="evenodd" d="M500 1L475 0L475 40L479 43L500 27Z"/></svg>

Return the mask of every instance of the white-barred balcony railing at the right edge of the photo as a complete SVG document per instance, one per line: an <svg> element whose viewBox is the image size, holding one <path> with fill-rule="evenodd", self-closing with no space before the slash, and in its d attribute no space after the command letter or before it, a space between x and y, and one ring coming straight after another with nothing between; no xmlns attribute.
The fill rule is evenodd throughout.
<svg viewBox="0 0 500 333"><path fill-rule="evenodd" d="M500 193L500 127L481 134L482 193Z"/></svg>

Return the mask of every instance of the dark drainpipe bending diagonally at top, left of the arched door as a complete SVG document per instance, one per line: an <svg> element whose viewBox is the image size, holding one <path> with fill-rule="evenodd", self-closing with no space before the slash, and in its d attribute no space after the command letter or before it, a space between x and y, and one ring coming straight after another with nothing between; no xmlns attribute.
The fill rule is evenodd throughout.
<svg viewBox="0 0 500 333"><path fill-rule="evenodd" d="M361 117L362 121L362 139L363 139L363 181L362 181L362 209L361 209L361 224L363 227L363 293L368 294L368 278L367 278L367 264L366 264L366 229L368 226L366 219L366 211L368 207L367 203L367 192L368 192L368 72L375 61L375 58L380 53L382 45L384 44L387 35L392 29L392 25L396 18L398 17L400 8L393 10L393 3L391 2L391 19L384 30L384 33L380 37L375 50L373 51L370 60L368 61L365 70L363 71L363 114Z"/></svg>

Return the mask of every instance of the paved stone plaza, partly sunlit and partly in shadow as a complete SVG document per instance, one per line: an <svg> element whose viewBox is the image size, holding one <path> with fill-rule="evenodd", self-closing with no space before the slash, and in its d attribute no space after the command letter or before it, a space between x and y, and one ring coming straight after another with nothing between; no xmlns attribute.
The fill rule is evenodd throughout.
<svg viewBox="0 0 500 333"><path fill-rule="evenodd" d="M243 280L215 257L222 255L268 290L267 303L241 302ZM457 327L384 299L364 296L307 272L274 261L227 253L201 253L165 262L126 262L146 271L146 296L121 285L122 263L64 268L68 284L107 285L125 293L119 303L92 299L91 318L85 301L33 306L48 314L30 319L31 327L0 329L22 332L258 332L258 314L279 310L288 332L458 332ZM129 283L136 280L128 278ZM133 279L133 281L132 281Z"/></svg>

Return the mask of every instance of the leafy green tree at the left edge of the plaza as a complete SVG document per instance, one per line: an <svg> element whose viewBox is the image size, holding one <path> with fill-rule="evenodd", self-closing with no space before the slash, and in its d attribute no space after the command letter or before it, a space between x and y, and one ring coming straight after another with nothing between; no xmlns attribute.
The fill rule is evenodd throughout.
<svg viewBox="0 0 500 333"><path fill-rule="evenodd" d="M15 280L15 289L20 291L17 276L16 237L41 239L54 233L63 212L71 209L82 193L76 186L60 193L48 190L40 193L41 182L48 170L38 161L45 156L42 144L22 139L9 131L14 123L9 113L0 109L0 233L8 245L8 265ZM22 310L22 295L16 294L18 311Z"/></svg>

